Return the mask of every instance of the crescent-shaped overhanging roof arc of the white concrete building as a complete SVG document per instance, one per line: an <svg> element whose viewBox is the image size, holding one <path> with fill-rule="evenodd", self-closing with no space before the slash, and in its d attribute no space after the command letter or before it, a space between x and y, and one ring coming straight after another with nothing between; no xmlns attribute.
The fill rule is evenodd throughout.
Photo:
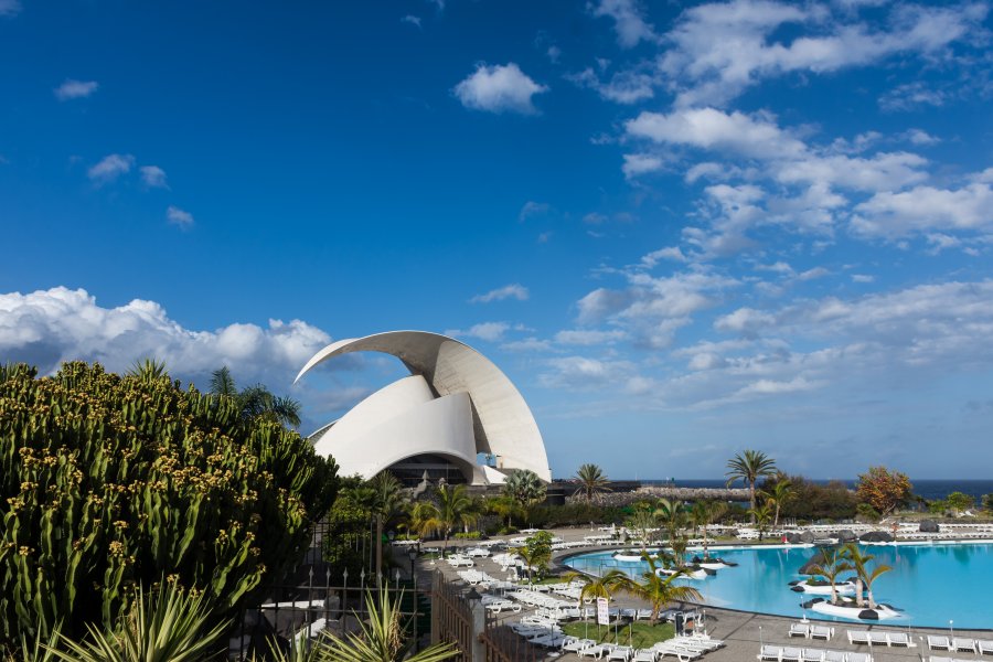
<svg viewBox="0 0 993 662"><path fill-rule="evenodd" d="M527 403L493 363L452 338L426 331L388 331L340 340L314 354L297 375L350 352L383 352L396 356L412 374L423 375L439 396L468 393L477 452L500 456L504 469L530 469L552 480L542 434Z"/></svg>

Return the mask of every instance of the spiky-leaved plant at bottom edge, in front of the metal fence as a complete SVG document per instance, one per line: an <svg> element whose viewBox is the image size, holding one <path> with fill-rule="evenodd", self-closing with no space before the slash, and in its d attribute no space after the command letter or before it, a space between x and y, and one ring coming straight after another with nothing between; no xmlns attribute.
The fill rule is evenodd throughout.
<svg viewBox="0 0 993 662"><path fill-rule="evenodd" d="M459 654L458 649L449 642L437 643L410 654L416 640L405 637L401 600L403 591L396 598L391 598L384 588L378 589L377 594L366 591L365 609L369 611L369 620L362 623L362 632L349 634L345 639L325 636L313 644L316 656L306 662L441 662Z"/></svg>

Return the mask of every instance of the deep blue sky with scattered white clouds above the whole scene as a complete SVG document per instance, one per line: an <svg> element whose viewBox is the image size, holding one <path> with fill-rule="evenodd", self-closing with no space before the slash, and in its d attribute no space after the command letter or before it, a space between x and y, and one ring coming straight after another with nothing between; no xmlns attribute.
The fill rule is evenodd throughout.
<svg viewBox="0 0 993 662"><path fill-rule="evenodd" d="M0 357L323 423L457 335L553 473L990 478L989 2L0 0Z"/></svg>

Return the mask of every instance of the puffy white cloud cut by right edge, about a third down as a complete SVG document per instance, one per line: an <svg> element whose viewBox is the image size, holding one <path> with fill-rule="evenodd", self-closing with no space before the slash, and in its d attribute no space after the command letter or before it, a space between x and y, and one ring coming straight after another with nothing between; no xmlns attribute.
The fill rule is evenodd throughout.
<svg viewBox="0 0 993 662"><path fill-rule="evenodd" d="M858 235L901 237L928 229L979 231L993 227L993 190L973 183L961 189L915 186L879 192L855 207Z"/></svg>

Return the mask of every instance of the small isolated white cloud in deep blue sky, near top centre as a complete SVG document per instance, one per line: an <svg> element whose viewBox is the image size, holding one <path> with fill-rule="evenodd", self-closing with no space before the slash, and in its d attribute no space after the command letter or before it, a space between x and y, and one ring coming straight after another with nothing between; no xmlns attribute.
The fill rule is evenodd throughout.
<svg viewBox="0 0 993 662"><path fill-rule="evenodd" d="M513 62L493 66L480 64L476 72L452 89L467 108L522 115L536 114L532 97L547 90L546 86L532 81Z"/></svg>

